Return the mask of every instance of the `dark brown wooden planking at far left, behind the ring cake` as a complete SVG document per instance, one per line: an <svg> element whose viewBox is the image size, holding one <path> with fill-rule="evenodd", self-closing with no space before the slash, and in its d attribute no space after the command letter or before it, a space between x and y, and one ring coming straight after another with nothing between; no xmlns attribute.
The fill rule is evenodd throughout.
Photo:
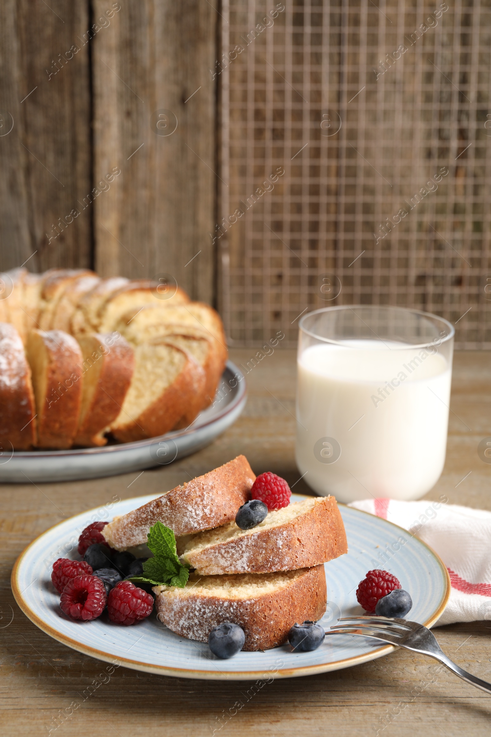
<svg viewBox="0 0 491 737"><path fill-rule="evenodd" d="M0 7L0 268L87 266L90 216L67 216L91 187L88 0ZM78 51L75 51L78 49ZM0 133L1 133L0 128ZM68 218L69 219L69 218Z"/></svg>

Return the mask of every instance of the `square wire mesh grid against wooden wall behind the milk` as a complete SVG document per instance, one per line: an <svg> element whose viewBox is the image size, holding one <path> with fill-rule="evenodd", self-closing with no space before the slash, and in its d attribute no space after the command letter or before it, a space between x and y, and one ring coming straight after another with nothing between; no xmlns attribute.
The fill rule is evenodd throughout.
<svg viewBox="0 0 491 737"><path fill-rule="evenodd" d="M230 343L395 304L491 348L490 0L222 1L221 310Z"/></svg>

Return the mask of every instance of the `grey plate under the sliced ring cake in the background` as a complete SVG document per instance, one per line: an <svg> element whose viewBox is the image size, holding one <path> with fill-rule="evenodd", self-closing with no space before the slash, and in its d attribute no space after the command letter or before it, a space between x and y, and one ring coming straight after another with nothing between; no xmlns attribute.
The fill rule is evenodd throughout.
<svg viewBox="0 0 491 737"><path fill-rule="evenodd" d="M169 464L209 445L244 409L246 383L239 368L227 361L211 407L203 410L186 430L158 438L100 448L71 450L1 450L0 483L74 481Z"/></svg>

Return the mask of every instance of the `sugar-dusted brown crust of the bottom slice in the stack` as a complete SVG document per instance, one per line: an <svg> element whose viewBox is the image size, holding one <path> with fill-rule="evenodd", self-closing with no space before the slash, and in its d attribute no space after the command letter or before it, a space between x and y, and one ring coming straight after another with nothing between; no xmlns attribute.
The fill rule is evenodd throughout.
<svg viewBox="0 0 491 737"><path fill-rule="evenodd" d="M244 630L243 650L267 650L285 643L295 622L317 621L325 612L324 566L294 573L300 575L289 585L257 597L221 598L200 592L183 596L162 587L156 599L158 618L177 635L199 642L208 642L213 627L233 622Z"/></svg>

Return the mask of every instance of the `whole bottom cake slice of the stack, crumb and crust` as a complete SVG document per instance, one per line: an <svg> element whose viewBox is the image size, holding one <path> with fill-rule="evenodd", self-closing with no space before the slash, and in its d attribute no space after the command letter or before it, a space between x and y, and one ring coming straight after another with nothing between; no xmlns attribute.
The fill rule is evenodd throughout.
<svg viewBox="0 0 491 737"><path fill-rule="evenodd" d="M317 621L325 612L323 565L282 573L199 576L185 587L155 586L158 619L183 638L208 642L211 630L233 622L244 630L244 650L286 642L295 622Z"/></svg>

